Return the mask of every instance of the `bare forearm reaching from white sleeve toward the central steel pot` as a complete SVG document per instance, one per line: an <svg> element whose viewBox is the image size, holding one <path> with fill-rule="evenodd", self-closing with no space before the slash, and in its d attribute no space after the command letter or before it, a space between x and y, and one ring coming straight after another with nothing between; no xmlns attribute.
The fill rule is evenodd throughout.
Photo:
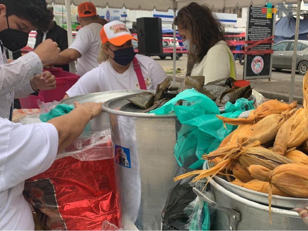
<svg viewBox="0 0 308 231"><path fill-rule="evenodd" d="M67 115L59 116L49 120L59 134L58 153L74 142L83 132L87 123L91 120L90 113L84 108L77 108Z"/></svg>

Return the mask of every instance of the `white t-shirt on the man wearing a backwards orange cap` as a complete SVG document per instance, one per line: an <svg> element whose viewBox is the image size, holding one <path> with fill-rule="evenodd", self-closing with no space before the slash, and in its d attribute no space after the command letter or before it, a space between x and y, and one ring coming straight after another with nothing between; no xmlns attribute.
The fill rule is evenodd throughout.
<svg viewBox="0 0 308 231"><path fill-rule="evenodd" d="M99 23L91 23L83 26L77 33L72 45L69 47L75 49L81 54L77 59L77 75L83 76L93 68L98 67L98 55L102 49L100 31L103 26Z"/></svg>

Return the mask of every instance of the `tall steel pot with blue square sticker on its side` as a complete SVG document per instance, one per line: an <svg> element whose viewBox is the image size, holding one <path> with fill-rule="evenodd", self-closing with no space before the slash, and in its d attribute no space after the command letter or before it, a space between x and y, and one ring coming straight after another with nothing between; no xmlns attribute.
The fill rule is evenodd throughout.
<svg viewBox="0 0 308 231"><path fill-rule="evenodd" d="M129 97L103 104L110 115L121 215L139 229L160 230L161 211L178 170L176 117L134 112L138 109Z"/></svg>

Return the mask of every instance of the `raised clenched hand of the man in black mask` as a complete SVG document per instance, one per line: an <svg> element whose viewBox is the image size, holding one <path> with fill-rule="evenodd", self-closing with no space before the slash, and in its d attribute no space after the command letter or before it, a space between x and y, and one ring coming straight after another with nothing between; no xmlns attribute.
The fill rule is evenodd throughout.
<svg viewBox="0 0 308 231"><path fill-rule="evenodd" d="M34 49L34 52L41 59L43 66L46 66L55 63L59 59L60 48L58 43L53 42L51 39L46 39Z"/></svg>

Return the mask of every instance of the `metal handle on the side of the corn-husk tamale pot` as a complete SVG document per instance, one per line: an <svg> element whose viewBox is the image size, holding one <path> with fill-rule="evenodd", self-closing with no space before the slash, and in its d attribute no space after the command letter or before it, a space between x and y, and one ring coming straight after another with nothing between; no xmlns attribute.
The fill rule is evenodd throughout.
<svg viewBox="0 0 308 231"><path fill-rule="evenodd" d="M210 198L215 198L213 193L205 192L202 193L199 189L196 187L193 187L193 192L200 197L202 200L204 200L206 203L209 204L213 209L217 209L223 213L225 213L228 216L229 219L229 230L237 230L237 225L241 221L241 213L238 213L237 211L234 211L233 209L229 209L227 207L224 207L222 205L218 205L215 201L213 201ZM210 195L210 194L213 194Z"/></svg>

